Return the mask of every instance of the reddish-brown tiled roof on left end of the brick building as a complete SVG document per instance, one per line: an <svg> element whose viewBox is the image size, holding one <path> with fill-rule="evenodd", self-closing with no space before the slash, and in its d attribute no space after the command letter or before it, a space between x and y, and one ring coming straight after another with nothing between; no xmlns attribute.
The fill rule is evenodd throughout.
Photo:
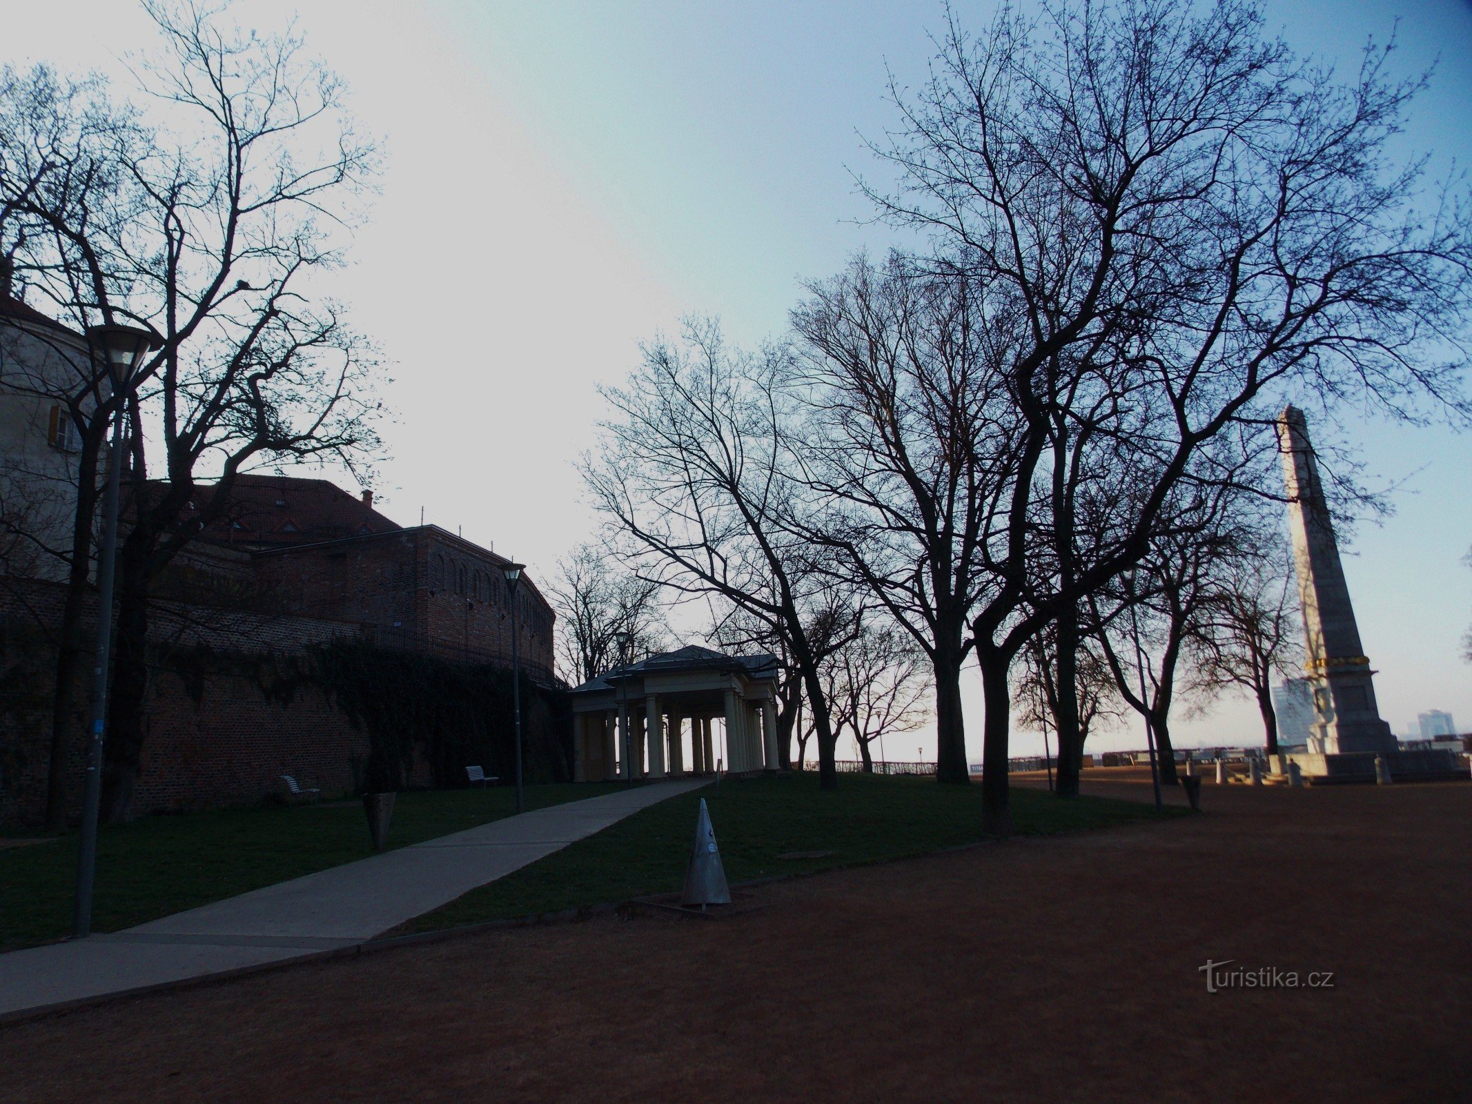
<svg viewBox="0 0 1472 1104"><path fill-rule="evenodd" d="M199 487L194 506L203 509L213 493L213 487ZM283 548L400 528L403 526L328 480L237 475L228 508L200 537L221 545Z"/></svg>

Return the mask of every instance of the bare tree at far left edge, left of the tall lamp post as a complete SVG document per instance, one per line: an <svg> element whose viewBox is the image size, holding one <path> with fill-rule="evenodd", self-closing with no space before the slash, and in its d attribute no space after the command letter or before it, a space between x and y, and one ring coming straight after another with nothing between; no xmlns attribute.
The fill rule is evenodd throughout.
<svg viewBox="0 0 1472 1104"><path fill-rule="evenodd" d="M82 614L94 558L99 468L118 403L106 368L82 337L94 322L135 321L113 243L138 213L125 163L150 143L135 113L112 103L99 78L65 79L49 66L0 69L0 293L29 299L7 321L6 384L54 409L57 447L6 458L4 526L10 565L66 580L56 626L47 776L47 826L66 815L66 749L79 726L74 690L82 662ZM147 369L144 369L147 372ZM60 462L57 462L60 459ZM24 562L22 562L24 561Z"/></svg>

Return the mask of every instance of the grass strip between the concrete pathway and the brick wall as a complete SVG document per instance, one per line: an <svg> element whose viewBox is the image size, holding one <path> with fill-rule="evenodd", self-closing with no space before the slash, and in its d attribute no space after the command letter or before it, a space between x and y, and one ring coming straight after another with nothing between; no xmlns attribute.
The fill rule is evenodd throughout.
<svg viewBox="0 0 1472 1104"><path fill-rule="evenodd" d="M527 808L593 798L615 783L527 786ZM389 846L515 813L511 786L400 793ZM372 852L361 802L143 817L97 839L93 927L116 932L184 908L325 870ZM71 932L77 833L0 848L0 949Z"/></svg>

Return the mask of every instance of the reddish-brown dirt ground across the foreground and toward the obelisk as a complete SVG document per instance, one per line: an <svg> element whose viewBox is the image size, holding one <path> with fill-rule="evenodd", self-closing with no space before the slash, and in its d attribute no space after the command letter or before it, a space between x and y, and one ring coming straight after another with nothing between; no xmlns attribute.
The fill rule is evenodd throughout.
<svg viewBox="0 0 1472 1104"><path fill-rule="evenodd" d="M1472 785L1203 805L18 1023L0 1098L1472 1100Z"/></svg>

